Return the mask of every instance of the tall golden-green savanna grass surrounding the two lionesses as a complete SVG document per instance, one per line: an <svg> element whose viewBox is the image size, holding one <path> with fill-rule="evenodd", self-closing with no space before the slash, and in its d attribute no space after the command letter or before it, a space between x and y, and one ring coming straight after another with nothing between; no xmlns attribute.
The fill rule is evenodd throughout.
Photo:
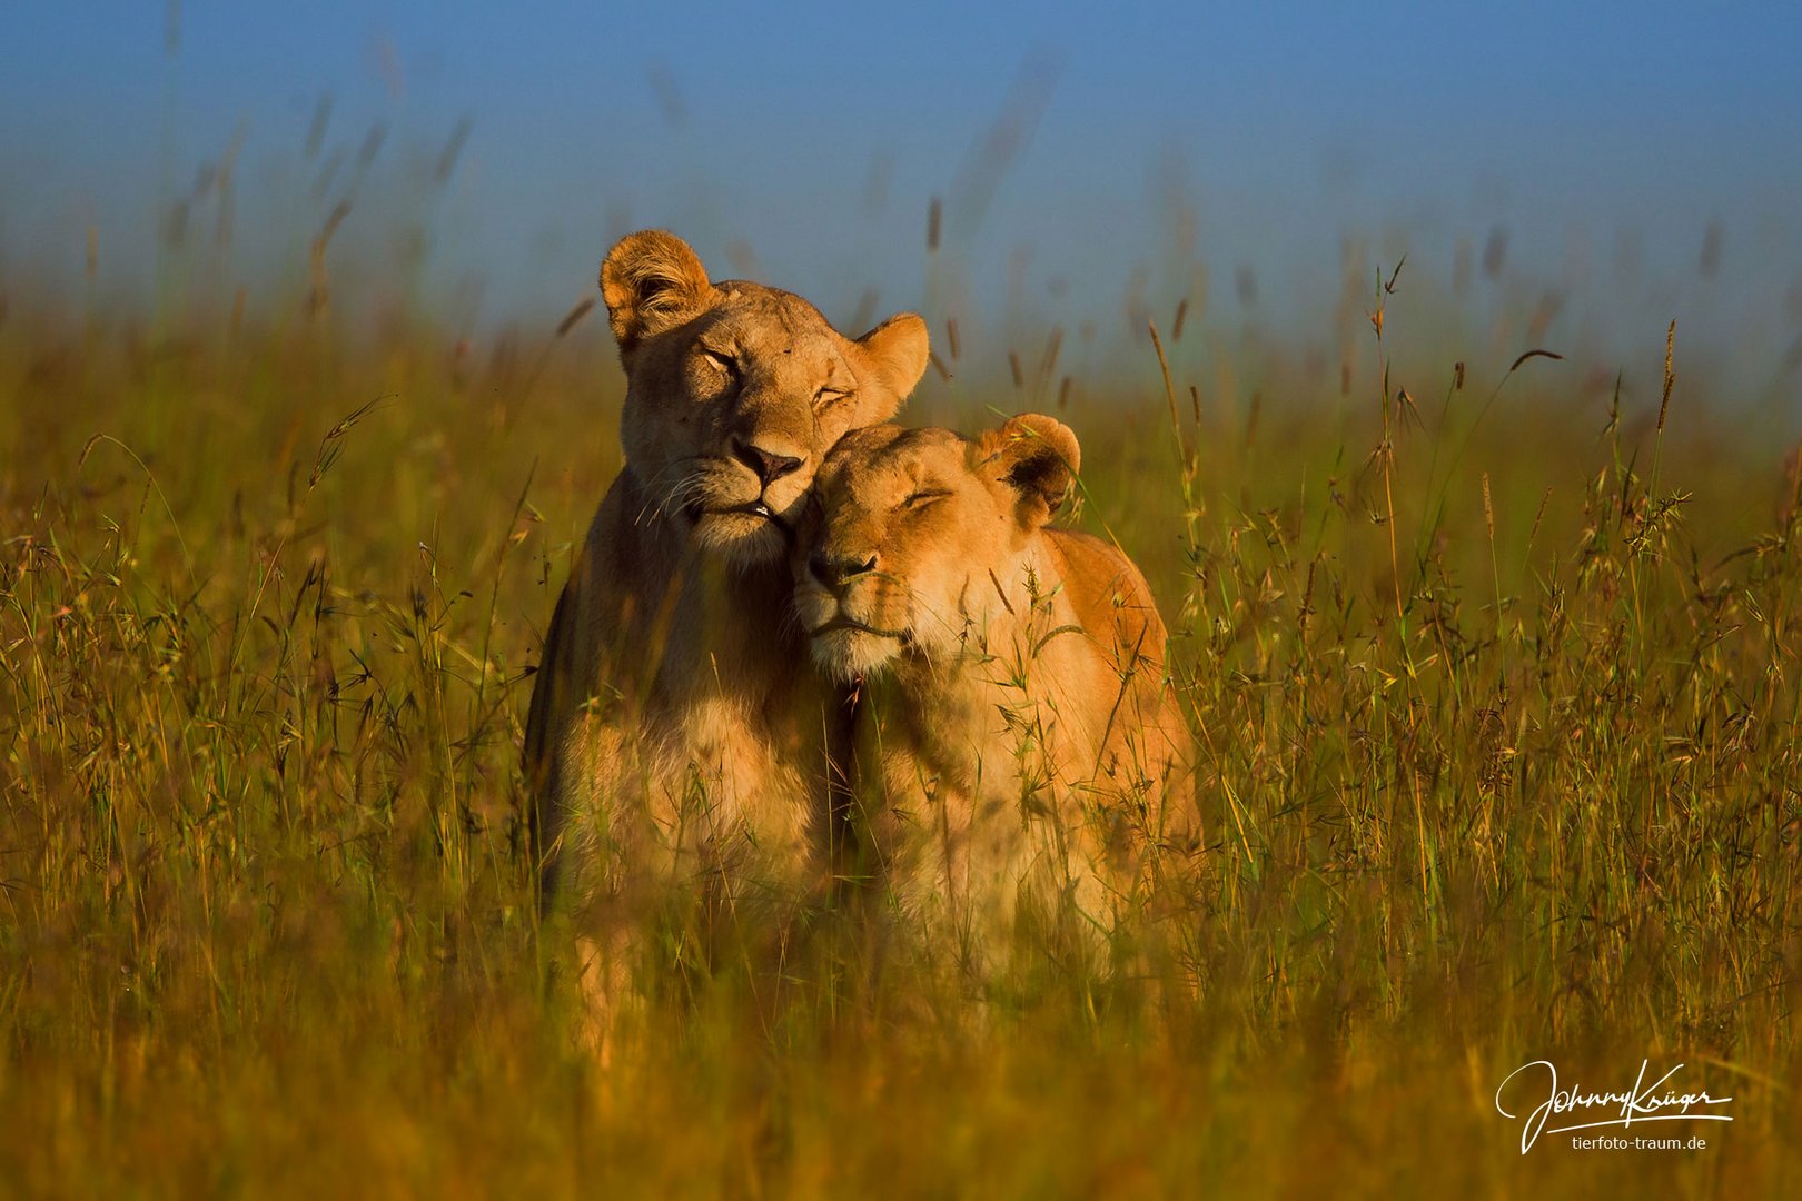
<svg viewBox="0 0 1802 1201"><path fill-rule="evenodd" d="M676 965L605 1064L517 765L618 468L604 321L13 288L0 1192L1793 1196L1793 430L1681 330L1521 358L1555 328L1411 312L1422 270L1312 366L1197 312L1168 380L1144 340L980 387L939 321L905 414L1081 438L1070 520L1144 564L1202 747L1153 969L1193 987ZM1683 1062L1734 1122L1523 1156L1534 1059Z"/></svg>

